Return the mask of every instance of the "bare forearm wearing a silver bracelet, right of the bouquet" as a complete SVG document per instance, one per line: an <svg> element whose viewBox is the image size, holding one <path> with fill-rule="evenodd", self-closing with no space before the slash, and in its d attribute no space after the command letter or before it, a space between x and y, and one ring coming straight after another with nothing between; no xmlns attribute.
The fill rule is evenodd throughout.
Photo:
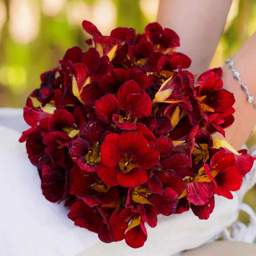
<svg viewBox="0 0 256 256"><path fill-rule="evenodd" d="M247 40L236 54L232 57L235 69L240 73L242 82L248 87L250 95L256 101L256 32ZM234 93L236 102L234 108L235 122L225 130L228 142L238 150L248 139L253 127L256 125L256 109L253 104L247 102L244 91L240 88L238 81L233 77L228 65L223 66L223 88ZM215 134L217 135L217 134ZM218 134L216 136L221 138Z"/></svg>

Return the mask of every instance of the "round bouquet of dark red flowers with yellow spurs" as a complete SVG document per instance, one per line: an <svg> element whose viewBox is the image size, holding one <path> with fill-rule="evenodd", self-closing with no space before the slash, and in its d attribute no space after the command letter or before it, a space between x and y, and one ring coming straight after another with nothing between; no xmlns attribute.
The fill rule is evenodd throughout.
<svg viewBox="0 0 256 256"><path fill-rule="evenodd" d="M208 219L214 194L232 199L253 165L246 150L213 136L234 122L221 68L196 79L178 35L156 22L143 34L83 28L92 47L68 49L24 107L31 128L20 142L43 195L65 201L68 218L103 242L132 248L158 214L191 209Z"/></svg>

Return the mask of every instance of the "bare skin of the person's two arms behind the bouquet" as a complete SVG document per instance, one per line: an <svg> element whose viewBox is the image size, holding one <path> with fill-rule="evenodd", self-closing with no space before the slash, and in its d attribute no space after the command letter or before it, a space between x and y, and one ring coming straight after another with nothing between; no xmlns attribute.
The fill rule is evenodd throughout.
<svg viewBox="0 0 256 256"><path fill-rule="evenodd" d="M189 69L201 74L208 69L222 34L232 0L160 0L157 22L164 28L171 28L180 36L179 51L192 59ZM185 18L184 18L185 17ZM235 69L242 82L256 100L256 33L232 57ZM223 88L234 93L236 110L234 124L225 129L225 140L239 150L256 125L256 110L248 103L231 69L223 64ZM255 101L254 100L254 101ZM221 134L215 137L223 138Z"/></svg>

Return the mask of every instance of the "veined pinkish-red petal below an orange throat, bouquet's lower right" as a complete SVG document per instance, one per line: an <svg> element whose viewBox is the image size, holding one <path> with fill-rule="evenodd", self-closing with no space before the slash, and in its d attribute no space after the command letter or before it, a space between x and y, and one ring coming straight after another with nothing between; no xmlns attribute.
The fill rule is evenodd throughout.
<svg viewBox="0 0 256 256"><path fill-rule="evenodd" d="M192 182L186 185L187 200L194 205L206 204L213 195L212 183Z"/></svg>

